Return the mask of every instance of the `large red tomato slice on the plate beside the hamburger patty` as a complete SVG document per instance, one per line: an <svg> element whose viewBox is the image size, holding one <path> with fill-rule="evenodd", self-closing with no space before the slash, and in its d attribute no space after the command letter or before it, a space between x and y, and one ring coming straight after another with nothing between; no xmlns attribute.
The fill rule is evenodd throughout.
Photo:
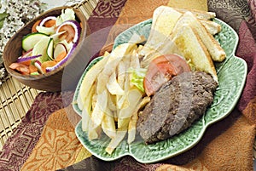
<svg viewBox="0 0 256 171"><path fill-rule="evenodd" d="M186 60L177 54L161 55L152 60L144 78L145 93L153 95L164 83L185 71L190 71Z"/></svg>

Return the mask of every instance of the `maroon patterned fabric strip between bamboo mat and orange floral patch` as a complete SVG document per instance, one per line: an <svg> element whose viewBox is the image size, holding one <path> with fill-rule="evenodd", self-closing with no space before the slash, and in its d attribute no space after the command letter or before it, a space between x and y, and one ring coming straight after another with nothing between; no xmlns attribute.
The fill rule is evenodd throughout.
<svg viewBox="0 0 256 171"><path fill-rule="evenodd" d="M49 115L61 108L61 94L38 94L26 117L15 128L13 136L3 145L3 151L0 151L0 170L19 170L37 144Z"/></svg>

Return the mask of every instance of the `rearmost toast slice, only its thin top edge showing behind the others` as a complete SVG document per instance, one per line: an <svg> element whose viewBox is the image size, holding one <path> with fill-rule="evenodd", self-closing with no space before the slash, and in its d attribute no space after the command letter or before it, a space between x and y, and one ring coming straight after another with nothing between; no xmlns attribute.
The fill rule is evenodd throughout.
<svg viewBox="0 0 256 171"><path fill-rule="evenodd" d="M195 14L196 18L203 19L203 20L211 20L216 17L216 14L214 12L207 12L207 11L201 11L196 9L178 9L178 8L173 8L173 9L177 10L182 14L190 11L191 13Z"/></svg>

